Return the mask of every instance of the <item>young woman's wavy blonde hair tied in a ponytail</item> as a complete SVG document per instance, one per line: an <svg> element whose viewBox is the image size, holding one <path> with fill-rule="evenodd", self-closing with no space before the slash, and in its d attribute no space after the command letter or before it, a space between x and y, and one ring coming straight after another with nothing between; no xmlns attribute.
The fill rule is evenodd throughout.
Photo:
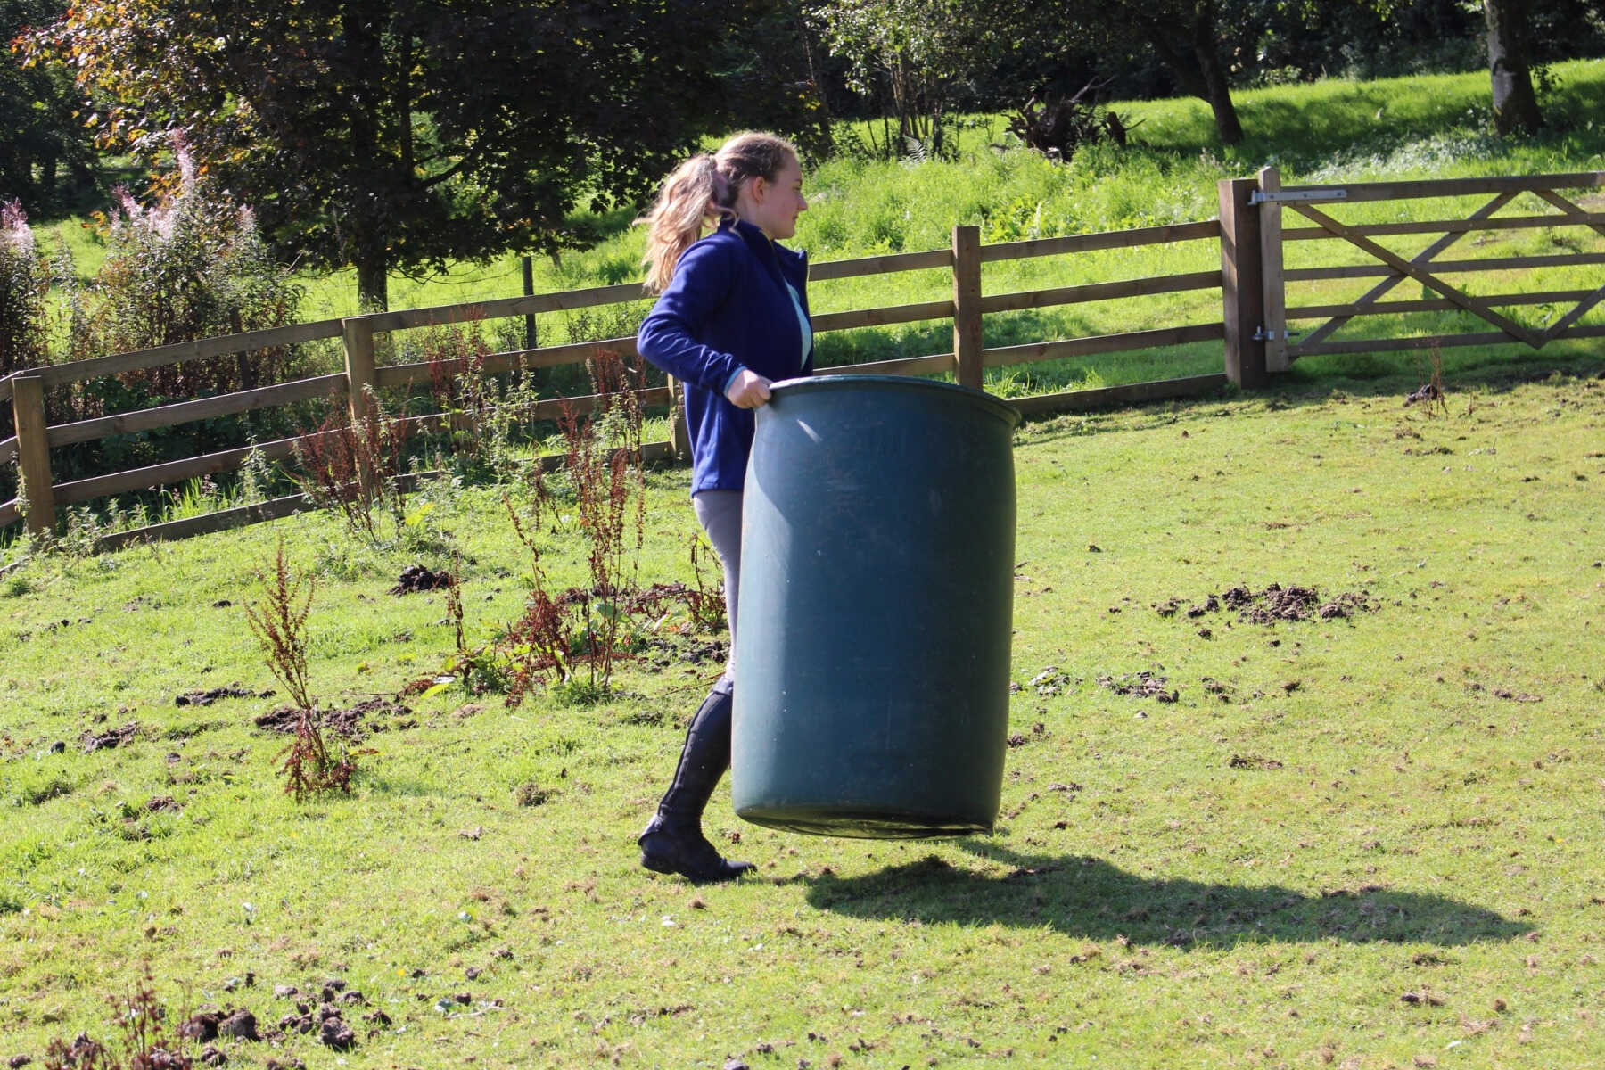
<svg viewBox="0 0 1605 1070"><path fill-rule="evenodd" d="M798 149L785 138L746 130L717 152L698 152L669 172L652 210L636 220L647 228L647 253L640 260L647 290L668 289L676 265L703 228L733 218L742 188L754 178L774 181L791 159L798 159Z"/></svg>

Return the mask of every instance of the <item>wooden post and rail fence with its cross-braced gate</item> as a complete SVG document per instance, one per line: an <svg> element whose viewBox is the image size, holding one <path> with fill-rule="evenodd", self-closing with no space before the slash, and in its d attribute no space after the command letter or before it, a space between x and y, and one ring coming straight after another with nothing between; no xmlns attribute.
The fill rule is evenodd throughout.
<svg viewBox="0 0 1605 1070"><path fill-rule="evenodd" d="M815 263L809 271L812 282L941 268L952 273L953 289L950 300L820 313L812 318L814 330L815 334L823 334L855 327L952 319L953 348L949 353L830 367L825 371L833 374L880 375L952 374L958 383L977 390L984 388L984 371L987 367L1221 342L1220 372L1098 390L1011 398L1010 403L1026 415L1196 396L1213 391L1228 382L1242 388L1257 388L1266 385L1271 375L1287 371L1292 359L1318 353L1343 355L1456 345L1497 345L1507 342L1538 348L1557 338L1605 337L1605 326L1581 322L1600 300L1605 300L1605 286L1594 284L1599 271L1591 271L1586 279L1587 286L1583 287L1530 289L1499 295L1473 295L1467 290L1467 284L1461 281L1462 276L1478 271L1523 271L1539 268L1570 271L1573 268L1597 268L1599 265L1605 265L1605 252L1578 252L1573 249L1565 253L1546 255L1483 257L1470 260L1440 258L1449 245L1472 231L1565 226L1589 231L1591 241L1592 236L1605 236L1605 213L1591 212L1579 205L1575 197L1560 193L1563 189L1589 191L1600 186L1605 186L1605 172L1282 188L1276 170L1265 168L1257 178L1226 180L1220 183L1220 215L1215 220L1000 244L982 244L979 228L976 226L955 226L952 247L949 249ZM1531 204L1536 199L1547 205L1549 210L1497 215L1523 194L1530 194L1525 204ZM1332 215L1343 204L1472 196L1488 197L1488 201L1469 217L1453 220L1342 223ZM1287 223L1292 221L1287 218L1289 215L1302 217L1302 220L1313 223L1313 226L1289 226ZM1440 237L1411 257L1393 252L1377 241L1379 237L1414 234L1440 234ZM1016 294L985 295L982 290L982 268L989 263L1191 241L1215 241L1220 244L1221 266L1218 271L1162 274ZM1323 241L1359 250L1363 261L1300 268L1286 266L1284 253L1290 244ZM1361 278L1380 278L1380 281L1356 300L1287 305L1289 284L1331 284L1334 281ZM1406 279L1417 282L1424 292L1433 292L1435 297L1393 302L1380 300L1388 290ZM989 313L1207 289L1220 289L1221 318L1218 322L1181 324L997 348L987 348L984 342L984 318ZM616 305L640 298L642 292L637 284L557 294L526 294L523 297L478 303L372 313L291 327L252 330L14 372L6 379L0 379L0 404L10 401L14 417L14 435L0 441L0 464L16 462L21 488L16 499L0 504L0 528L24 520L29 533L48 534L55 528L58 507L162 484L183 483L202 475L231 472L242 467L252 451L268 460L289 459L294 456L297 443L305 441L308 436L284 438L254 448L225 449L201 457L170 460L144 468L96 475L59 484L51 476L50 451L53 448L329 398L331 395L343 395L350 417L361 420L371 415L376 391L425 383L430 382L432 375L432 366L427 363L377 363L376 355L379 347L376 345L376 335L465 322L470 319L523 316L526 338L533 342L533 322L538 314ZM1499 311L1499 308L1517 305L1557 305L1568 302L1573 303L1571 310L1544 329L1523 326ZM1496 327L1496 330L1395 334L1393 337L1329 340L1334 332L1359 318L1441 311L1469 313ZM1295 342L1294 334L1297 332L1289 330L1289 321L1311 319L1324 322L1303 332ZM50 388L136 369L249 353L270 347L289 347L318 338L342 340L345 351L343 372L313 375L295 382L71 424L48 425L47 422L45 391ZM578 364L584 363L597 350L613 350L624 356L636 355L632 337L603 338L491 355L485 359L485 371L509 372L514 369ZM676 385L671 380L668 387L642 390L639 399L644 407L671 406L672 412ZM530 419L554 419L565 409L591 411L599 401L595 396L552 398L536 403L526 415ZM435 414L408 417L408 420L419 427L435 428L441 427L446 417ZM672 417L669 424L674 428L669 441L645 446L645 452L650 457L684 454L684 424ZM271 520L310 507L308 496L295 494L258 505L223 510L209 517L169 521L120 533L104 539L103 545L114 547L141 539L181 537L201 531Z"/></svg>

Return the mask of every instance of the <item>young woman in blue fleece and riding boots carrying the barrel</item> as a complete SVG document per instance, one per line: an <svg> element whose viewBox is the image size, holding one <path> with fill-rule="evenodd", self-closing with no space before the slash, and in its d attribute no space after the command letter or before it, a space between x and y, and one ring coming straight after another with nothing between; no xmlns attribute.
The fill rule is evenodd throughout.
<svg viewBox="0 0 1605 1070"><path fill-rule="evenodd" d="M732 645L753 409L769 401L770 382L814 371L807 258L777 244L796 233L804 210L796 148L748 132L681 164L642 220L647 289L660 297L636 347L685 387L692 505L724 565ZM703 809L730 765L733 687L727 666L692 717L674 780L640 834L648 869L729 881L753 868L721 858L701 833Z"/></svg>

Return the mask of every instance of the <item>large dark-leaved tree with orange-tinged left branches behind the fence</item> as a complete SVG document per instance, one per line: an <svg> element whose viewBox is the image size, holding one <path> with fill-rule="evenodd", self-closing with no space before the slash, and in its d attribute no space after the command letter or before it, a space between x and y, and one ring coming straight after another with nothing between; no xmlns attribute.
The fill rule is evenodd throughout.
<svg viewBox="0 0 1605 1070"><path fill-rule="evenodd" d="M169 130L316 265L392 270L583 245L729 114L706 42L769 0L79 0L29 39L100 104L101 144Z"/></svg>

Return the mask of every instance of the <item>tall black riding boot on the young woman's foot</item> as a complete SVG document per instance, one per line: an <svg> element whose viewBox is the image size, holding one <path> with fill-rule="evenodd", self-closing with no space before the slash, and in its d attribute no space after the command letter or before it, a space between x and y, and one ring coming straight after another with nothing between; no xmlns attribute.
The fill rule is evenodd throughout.
<svg viewBox="0 0 1605 1070"><path fill-rule="evenodd" d="M637 841L640 865L655 873L679 873L701 884L732 881L753 868L750 861L725 861L701 834L703 809L730 767L730 682L719 680L697 707L674 781Z"/></svg>

